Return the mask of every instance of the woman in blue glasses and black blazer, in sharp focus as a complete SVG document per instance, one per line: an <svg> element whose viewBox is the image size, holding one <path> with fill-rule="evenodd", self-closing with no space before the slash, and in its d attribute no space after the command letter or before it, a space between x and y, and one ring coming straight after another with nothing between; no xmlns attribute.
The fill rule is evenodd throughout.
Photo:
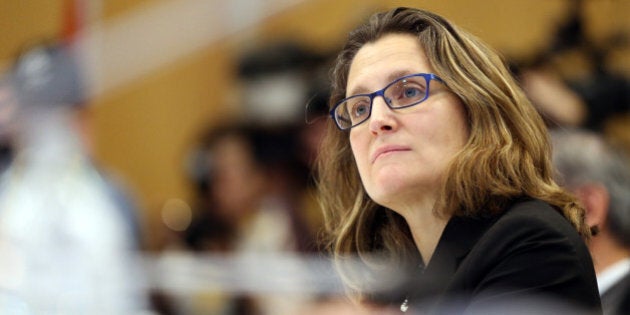
<svg viewBox="0 0 630 315"><path fill-rule="evenodd" d="M319 189L358 301L601 312L584 210L553 181L545 125L497 53L398 8L350 33L332 79ZM374 286L398 270L407 281Z"/></svg>

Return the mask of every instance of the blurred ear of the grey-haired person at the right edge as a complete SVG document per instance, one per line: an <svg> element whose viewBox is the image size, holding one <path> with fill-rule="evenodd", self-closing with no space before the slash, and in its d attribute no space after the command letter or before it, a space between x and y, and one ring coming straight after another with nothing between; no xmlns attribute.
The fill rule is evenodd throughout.
<svg viewBox="0 0 630 315"><path fill-rule="evenodd" d="M578 187L574 193L586 208L586 224L603 229L610 202L606 187L599 183L589 183Z"/></svg>

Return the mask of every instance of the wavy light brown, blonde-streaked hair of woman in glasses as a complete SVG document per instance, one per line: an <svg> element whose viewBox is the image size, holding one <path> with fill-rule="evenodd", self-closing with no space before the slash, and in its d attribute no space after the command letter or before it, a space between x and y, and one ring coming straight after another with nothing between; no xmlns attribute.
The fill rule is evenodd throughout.
<svg viewBox="0 0 630 315"><path fill-rule="evenodd" d="M519 197L538 198L560 211L585 238L590 229L573 195L553 179L545 124L502 58L473 35L424 10L397 8L373 15L349 34L332 71L330 106L346 96L348 71L366 43L387 34L417 37L429 63L463 102L470 138L445 174L434 211L482 216L501 212ZM366 194L350 149L348 133L329 122L318 157L318 188L327 245L336 260L358 256L372 270L418 263L405 220ZM380 258L372 261L371 254ZM342 268L342 271L344 268ZM342 272L355 293L365 288L349 269Z"/></svg>

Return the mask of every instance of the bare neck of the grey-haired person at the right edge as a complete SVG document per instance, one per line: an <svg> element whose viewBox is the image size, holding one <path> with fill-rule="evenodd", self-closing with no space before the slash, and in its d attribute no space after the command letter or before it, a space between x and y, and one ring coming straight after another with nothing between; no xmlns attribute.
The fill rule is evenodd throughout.
<svg viewBox="0 0 630 315"><path fill-rule="evenodd" d="M609 233L601 231L589 244L595 273L599 274L616 262L630 257L630 250L619 244Z"/></svg>

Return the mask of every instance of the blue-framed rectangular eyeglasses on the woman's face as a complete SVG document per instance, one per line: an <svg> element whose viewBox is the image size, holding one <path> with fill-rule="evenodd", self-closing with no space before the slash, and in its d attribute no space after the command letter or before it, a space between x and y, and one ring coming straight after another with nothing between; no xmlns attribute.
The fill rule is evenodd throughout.
<svg viewBox="0 0 630 315"><path fill-rule="evenodd" d="M344 98L333 107L330 116L339 129L347 130L370 118L372 103L377 96L383 97L391 109L418 105L429 97L429 82L431 80L444 83L444 80L432 73L407 75L394 80L382 90Z"/></svg>

